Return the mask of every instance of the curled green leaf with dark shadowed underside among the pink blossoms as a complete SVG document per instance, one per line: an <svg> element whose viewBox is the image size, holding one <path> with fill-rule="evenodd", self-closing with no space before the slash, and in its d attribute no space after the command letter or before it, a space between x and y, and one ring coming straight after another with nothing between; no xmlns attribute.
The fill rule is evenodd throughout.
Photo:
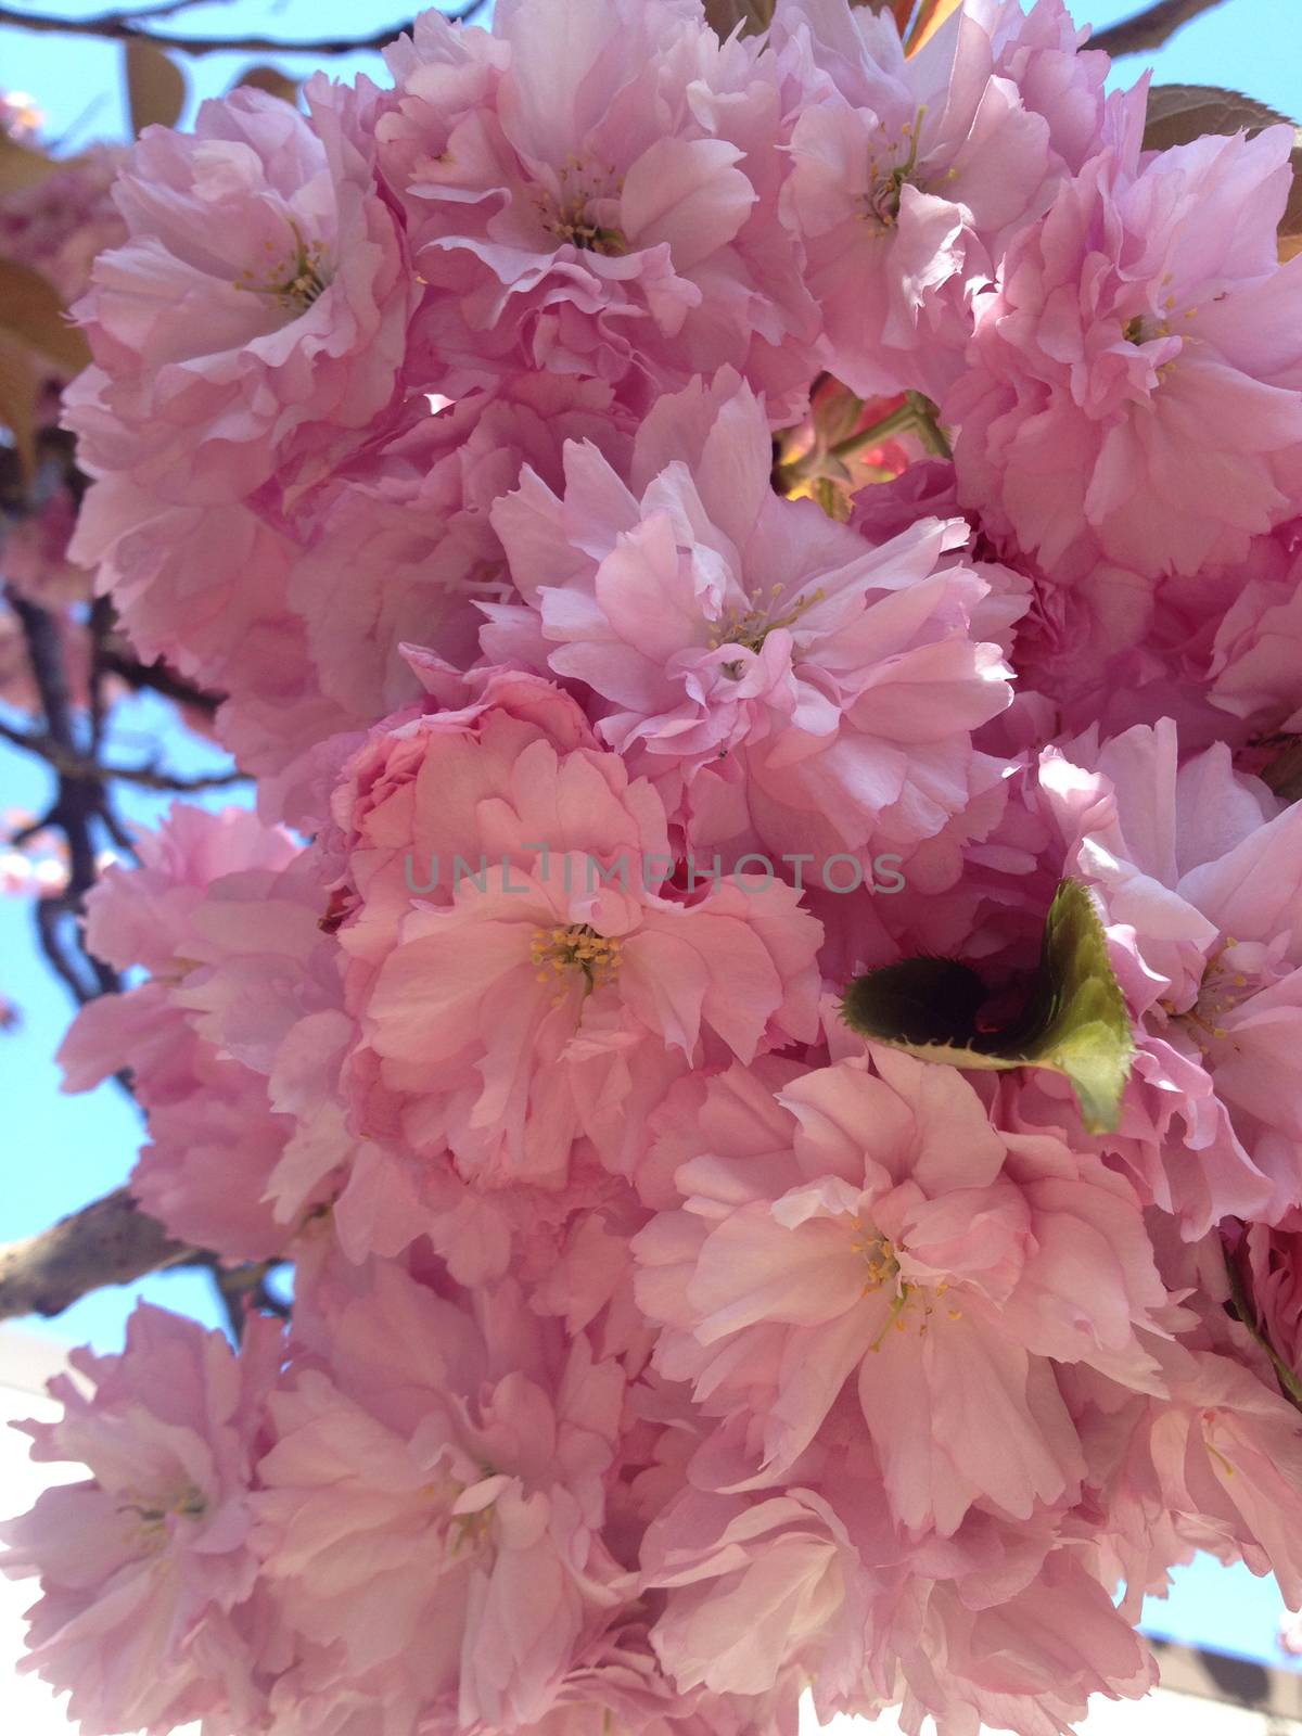
<svg viewBox="0 0 1302 1736"><path fill-rule="evenodd" d="M981 977L953 958L904 958L856 977L842 1017L859 1036L920 1061L1007 1071L1047 1068L1071 1082L1090 1134L1113 1132L1130 1076L1134 1036L1088 889L1062 880L1045 918L1026 1009L1002 1029L977 1023Z"/></svg>

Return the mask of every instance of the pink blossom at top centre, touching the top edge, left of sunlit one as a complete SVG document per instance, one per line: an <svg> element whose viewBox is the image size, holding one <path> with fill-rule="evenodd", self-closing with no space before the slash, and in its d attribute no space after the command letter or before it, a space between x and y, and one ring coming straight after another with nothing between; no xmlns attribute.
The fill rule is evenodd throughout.
<svg viewBox="0 0 1302 1736"><path fill-rule="evenodd" d="M818 316L759 40L720 43L700 0L498 0L491 36L425 12L385 59L380 165L439 361L590 375L642 408L733 363L799 415Z"/></svg>

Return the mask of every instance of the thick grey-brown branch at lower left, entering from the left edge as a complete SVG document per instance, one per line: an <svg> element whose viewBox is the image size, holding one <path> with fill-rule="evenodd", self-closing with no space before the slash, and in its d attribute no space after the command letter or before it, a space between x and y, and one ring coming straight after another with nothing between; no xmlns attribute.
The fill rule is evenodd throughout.
<svg viewBox="0 0 1302 1736"><path fill-rule="evenodd" d="M189 1255L116 1187L38 1236L0 1246L0 1319L62 1314L90 1290L130 1285Z"/></svg>

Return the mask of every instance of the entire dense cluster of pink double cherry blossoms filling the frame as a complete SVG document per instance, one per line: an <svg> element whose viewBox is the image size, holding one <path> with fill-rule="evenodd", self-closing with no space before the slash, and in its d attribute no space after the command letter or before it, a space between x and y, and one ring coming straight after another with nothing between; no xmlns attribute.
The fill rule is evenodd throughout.
<svg viewBox="0 0 1302 1736"><path fill-rule="evenodd" d="M295 1300L30 1425L83 1736L1054 1736L1194 1550L1302 1606L1293 135L1080 36L498 0L135 146L73 557L259 811L108 871L62 1064ZM847 1026L1064 880L1113 1127Z"/></svg>

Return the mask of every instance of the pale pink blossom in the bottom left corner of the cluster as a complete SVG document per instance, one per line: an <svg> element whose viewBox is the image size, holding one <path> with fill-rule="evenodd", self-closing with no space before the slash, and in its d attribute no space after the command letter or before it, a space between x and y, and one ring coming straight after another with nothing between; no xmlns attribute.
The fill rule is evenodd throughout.
<svg viewBox="0 0 1302 1736"><path fill-rule="evenodd" d="M43 1590L23 1667L71 1687L87 1736L224 1713L248 1677L233 1613L259 1569L250 1486L279 1328L250 1318L236 1358L220 1333L141 1304L122 1356L71 1363L89 1392L59 1375L64 1417L21 1427L33 1458L89 1477L3 1528L3 1571Z"/></svg>

